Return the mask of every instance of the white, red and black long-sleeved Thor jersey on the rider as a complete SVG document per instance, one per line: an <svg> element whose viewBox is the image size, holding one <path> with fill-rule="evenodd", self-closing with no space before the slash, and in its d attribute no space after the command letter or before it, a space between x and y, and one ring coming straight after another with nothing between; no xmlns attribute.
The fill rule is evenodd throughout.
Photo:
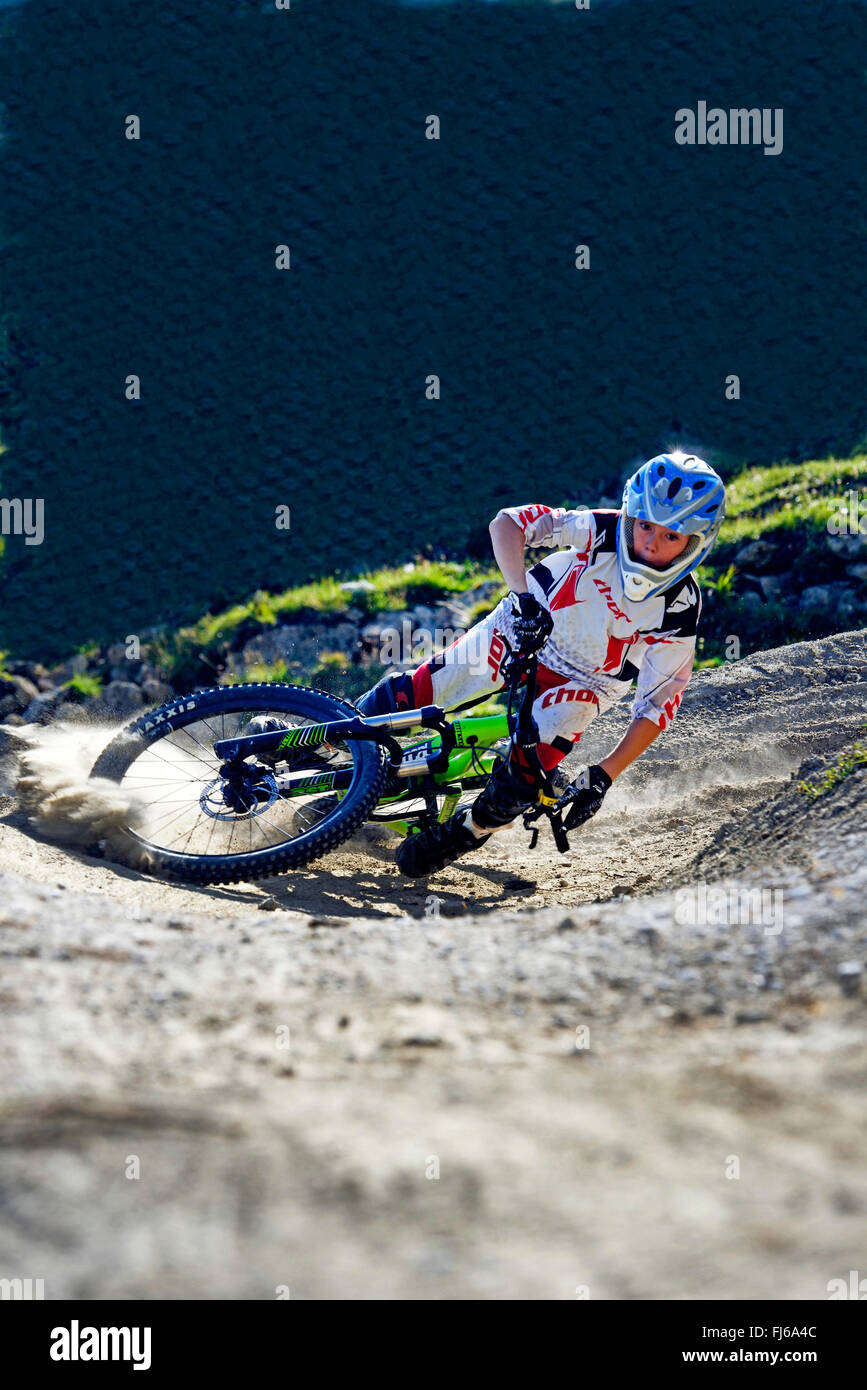
<svg viewBox="0 0 867 1390"><path fill-rule="evenodd" d="M554 623L542 662L593 691L600 709L622 699L636 681L632 716L666 728L695 660L702 595L693 577L636 602L625 596L617 563L620 512L532 503L503 507L499 516L521 527L527 545L561 548L527 575Z"/></svg>

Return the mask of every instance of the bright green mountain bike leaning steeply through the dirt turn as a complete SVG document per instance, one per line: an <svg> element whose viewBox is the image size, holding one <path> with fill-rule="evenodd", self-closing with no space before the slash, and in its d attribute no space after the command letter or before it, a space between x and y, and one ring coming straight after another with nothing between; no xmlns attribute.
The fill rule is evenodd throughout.
<svg viewBox="0 0 867 1390"><path fill-rule="evenodd" d="M547 816L563 851L571 785L535 753L536 660L510 649L507 708L475 717L438 705L364 716L324 691L271 681L181 695L124 728L90 770L129 796L114 848L170 878L270 877L311 863L365 821L414 834L446 820L517 744L536 783L524 816L532 844L534 821Z"/></svg>

